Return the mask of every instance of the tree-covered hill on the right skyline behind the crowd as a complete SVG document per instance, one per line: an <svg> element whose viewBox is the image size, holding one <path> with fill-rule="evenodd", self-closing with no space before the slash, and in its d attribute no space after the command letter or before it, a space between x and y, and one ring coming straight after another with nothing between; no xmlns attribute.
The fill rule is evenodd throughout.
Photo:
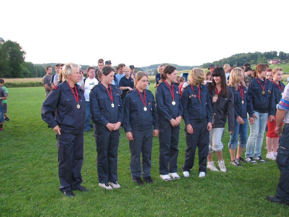
<svg viewBox="0 0 289 217"><path fill-rule="evenodd" d="M270 59L280 59L281 62L285 63L289 62L289 53L284 53L283 51L269 51L269 52L254 52L254 53L240 53L234 54L228 58L223 58L217 61L213 61L212 63L207 62L200 66L200 68L208 68L210 64L215 64L222 66L223 64L230 64L230 66L240 66L245 63L250 63L251 65L256 65L258 63L268 63Z"/></svg>

